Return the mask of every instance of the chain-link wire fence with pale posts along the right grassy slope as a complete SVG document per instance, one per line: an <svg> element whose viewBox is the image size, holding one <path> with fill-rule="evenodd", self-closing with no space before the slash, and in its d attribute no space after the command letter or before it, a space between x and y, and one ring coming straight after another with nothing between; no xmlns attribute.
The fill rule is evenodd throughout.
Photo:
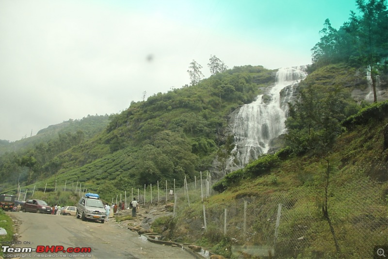
<svg viewBox="0 0 388 259"><path fill-rule="evenodd" d="M197 238L228 237L236 256L336 256L333 233L322 212L323 190L300 188L217 205L200 203L201 194L193 184L186 187L186 193L177 191L177 236L187 232ZM374 246L387 244L387 204L378 183L351 182L329 194L328 212L341 256L371 258Z"/></svg>

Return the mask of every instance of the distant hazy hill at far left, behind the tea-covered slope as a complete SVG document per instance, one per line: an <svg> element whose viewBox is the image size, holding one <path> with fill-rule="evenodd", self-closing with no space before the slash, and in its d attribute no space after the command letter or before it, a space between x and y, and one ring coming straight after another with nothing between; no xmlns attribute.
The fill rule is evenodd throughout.
<svg viewBox="0 0 388 259"><path fill-rule="evenodd" d="M57 155L93 138L106 129L108 123L108 115L88 115L81 120L68 120L51 125L39 130L35 136L15 142L1 140L2 187L15 186L17 181L36 181L36 175L51 175L57 168L53 161Z"/></svg>

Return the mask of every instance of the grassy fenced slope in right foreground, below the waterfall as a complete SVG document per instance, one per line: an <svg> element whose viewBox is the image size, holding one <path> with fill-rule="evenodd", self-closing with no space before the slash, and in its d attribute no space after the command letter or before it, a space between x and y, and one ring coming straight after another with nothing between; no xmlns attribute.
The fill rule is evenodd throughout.
<svg viewBox="0 0 388 259"><path fill-rule="evenodd" d="M370 258L388 244L388 102L374 107L346 121L325 157L279 152L227 175L203 204L181 194L162 235L226 258Z"/></svg>

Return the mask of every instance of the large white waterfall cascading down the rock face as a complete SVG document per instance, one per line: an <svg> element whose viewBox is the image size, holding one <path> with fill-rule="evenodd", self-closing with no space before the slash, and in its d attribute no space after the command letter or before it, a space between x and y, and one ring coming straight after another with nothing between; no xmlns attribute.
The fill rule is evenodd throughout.
<svg viewBox="0 0 388 259"><path fill-rule="evenodd" d="M280 68L269 93L259 95L254 102L241 107L235 118L235 148L226 165L227 171L242 168L260 154L267 153L271 140L284 133L288 102L297 83L306 78L305 68Z"/></svg>

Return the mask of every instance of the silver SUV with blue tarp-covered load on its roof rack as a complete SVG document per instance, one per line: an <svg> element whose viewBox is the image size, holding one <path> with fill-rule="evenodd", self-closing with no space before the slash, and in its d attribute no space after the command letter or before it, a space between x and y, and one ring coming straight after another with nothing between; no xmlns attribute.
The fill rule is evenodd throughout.
<svg viewBox="0 0 388 259"><path fill-rule="evenodd" d="M100 220L104 223L106 211L99 197L98 194L85 194L77 204L77 218Z"/></svg>

